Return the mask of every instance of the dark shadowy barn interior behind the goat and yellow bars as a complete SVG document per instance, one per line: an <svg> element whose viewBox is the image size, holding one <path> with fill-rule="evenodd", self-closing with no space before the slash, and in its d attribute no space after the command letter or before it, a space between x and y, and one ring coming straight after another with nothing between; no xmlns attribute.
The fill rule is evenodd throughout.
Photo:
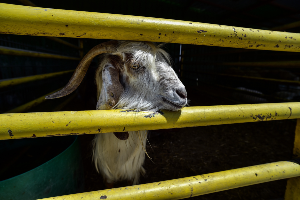
<svg viewBox="0 0 300 200"><path fill-rule="evenodd" d="M229 1L37 1L37 7L80 10L97 13L146 16L191 22L232 25L270 31L300 33L300 1L295 0L229 0ZM22 1L0 0L0 3L24 5ZM95 110L97 97L95 70L97 59L76 91L44 100L46 94L63 87L73 70L101 39L60 38L0 34L0 46L16 52L40 52L62 57L0 54L0 79L21 78L64 72L48 78L0 88L0 112L52 112ZM173 58L173 69L187 90L189 106L211 106L251 103L300 101L300 57L298 52L238 49L217 46L165 44ZM289 47L286 47L289 48ZM1 52L1 51L0 51ZM269 64L272 62L273 64ZM1 86L1 85L0 85ZM41 98L40 98L41 97ZM22 106L33 100L35 103ZM42 99L42 100L41 100ZM22 106L22 107L20 107ZM265 121L149 131L146 175L140 184L184 178L292 158L296 120ZM91 140L94 134L80 135L84 189L104 190L104 180L92 163ZM61 136L68 137L68 136ZM54 137L59 140L60 137ZM19 139L35 140L35 139ZM59 154L57 146L25 147L14 152L18 159L2 156L0 181L24 173ZM46 150L47 149L47 150ZM52 151L55 150L55 151ZM56 151L57 150L57 151ZM41 154L44 152L44 154ZM32 162L33 158L40 161ZM26 167L15 170L12 166ZM25 170L25 171L24 171ZM127 182L116 183L116 187ZM283 199L286 180L211 193L192 199ZM61 194L65 195L65 194ZM46 196L47 197L47 196Z"/></svg>

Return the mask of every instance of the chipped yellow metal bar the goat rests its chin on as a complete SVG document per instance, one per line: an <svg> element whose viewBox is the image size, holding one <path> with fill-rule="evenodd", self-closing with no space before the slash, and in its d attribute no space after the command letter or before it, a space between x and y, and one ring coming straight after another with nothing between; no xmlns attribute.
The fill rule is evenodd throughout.
<svg viewBox="0 0 300 200"><path fill-rule="evenodd" d="M300 118L300 102L184 107L172 112L90 110L0 114L0 139L196 127Z"/></svg>

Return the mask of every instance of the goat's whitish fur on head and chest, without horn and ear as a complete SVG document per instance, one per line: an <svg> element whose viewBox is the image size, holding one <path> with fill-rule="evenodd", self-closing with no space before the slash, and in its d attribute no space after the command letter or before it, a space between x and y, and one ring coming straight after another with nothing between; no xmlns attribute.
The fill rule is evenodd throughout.
<svg viewBox="0 0 300 200"><path fill-rule="evenodd" d="M119 41L116 52L102 55L96 73L98 98L100 94L104 95L101 93L101 88L104 88L102 78L109 78L102 77L102 70L110 65L112 55L117 55L122 61L120 82L124 92L112 109L154 112L158 109L176 111L184 107L187 104L185 87L171 67L170 56L160 47L161 44L151 42ZM131 60L127 60L128 54ZM143 67L128 71L128 64L136 63ZM179 95L178 90L185 94L185 98ZM137 184L140 174L145 173L146 140L146 131L129 132L129 138L125 141L117 139L113 133L97 134L93 141L96 169L108 183L128 179Z"/></svg>

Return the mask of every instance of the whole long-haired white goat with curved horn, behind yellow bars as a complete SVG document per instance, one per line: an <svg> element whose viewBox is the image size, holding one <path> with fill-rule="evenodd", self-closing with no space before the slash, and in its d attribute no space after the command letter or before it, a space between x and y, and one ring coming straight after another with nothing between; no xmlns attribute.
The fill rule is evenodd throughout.
<svg viewBox="0 0 300 200"><path fill-rule="evenodd" d="M46 98L63 97L74 91L91 60L103 53L95 76L97 110L180 110L187 104L187 93L161 45L122 40L101 43L85 55L68 84ZM146 131L96 134L93 157L107 184L120 180L138 184L140 174L145 173L146 140Z"/></svg>

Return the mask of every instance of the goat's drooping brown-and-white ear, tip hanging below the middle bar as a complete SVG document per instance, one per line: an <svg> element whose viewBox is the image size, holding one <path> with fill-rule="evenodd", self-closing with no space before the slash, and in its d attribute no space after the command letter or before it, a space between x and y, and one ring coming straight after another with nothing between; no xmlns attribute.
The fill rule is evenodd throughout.
<svg viewBox="0 0 300 200"><path fill-rule="evenodd" d="M110 110L118 103L124 91L119 79L119 71L112 64L104 67L102 70L102 88L97 103L97 110ZM116 132L114 135L120 140L127 140L129 137L127 131Z"/></svg>

